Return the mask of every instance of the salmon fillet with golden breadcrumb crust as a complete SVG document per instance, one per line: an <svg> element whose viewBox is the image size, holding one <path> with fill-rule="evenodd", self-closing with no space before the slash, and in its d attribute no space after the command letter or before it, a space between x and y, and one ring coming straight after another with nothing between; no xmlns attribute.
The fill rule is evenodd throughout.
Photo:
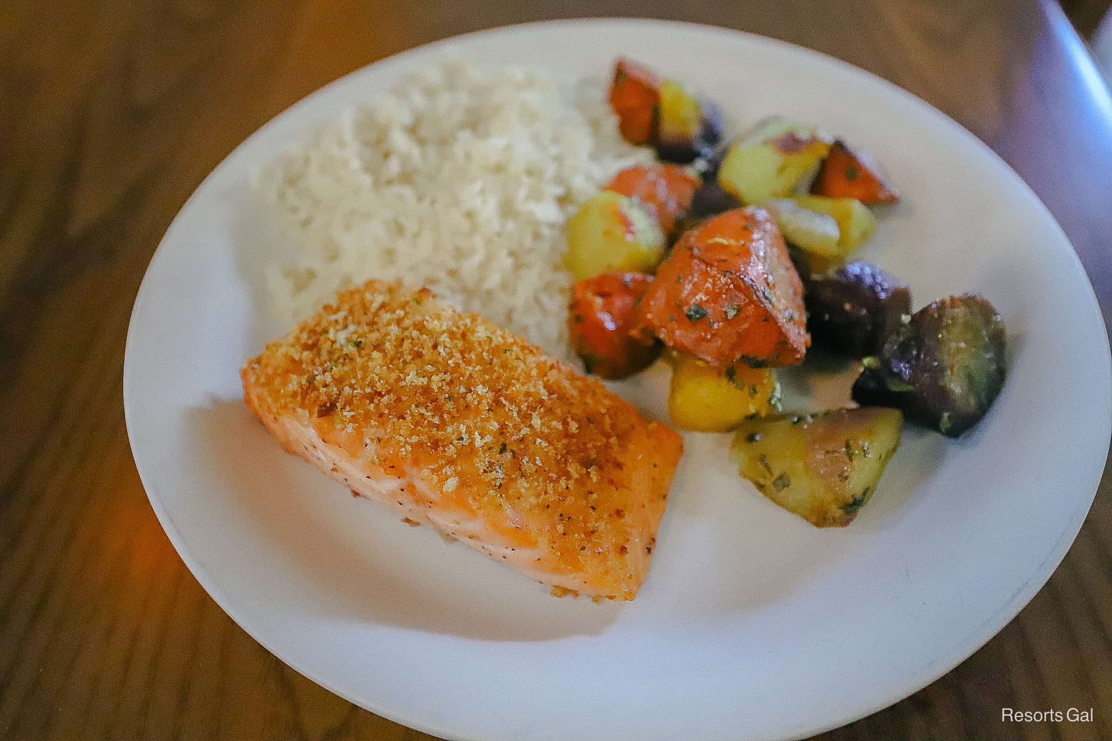
<svg viewBox="0 0 1112 741"><path fill-rule="evenodd" d="M353 493L554 592L645 580L679 435L431 291L340 293L241 377L282 447Z"/></svg>

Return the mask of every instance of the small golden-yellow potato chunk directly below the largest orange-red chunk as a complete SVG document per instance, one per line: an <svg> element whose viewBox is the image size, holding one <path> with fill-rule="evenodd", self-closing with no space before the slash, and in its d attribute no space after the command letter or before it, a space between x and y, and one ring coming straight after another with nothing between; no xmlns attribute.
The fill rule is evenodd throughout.
<svg viewBox="0 0 1112 741"><path fill-rule="evenodd" d="M744 419L780 410L780 383L771 369L719 368L683 353L672 364L668 417L681 429L726 432Z"/></svg>

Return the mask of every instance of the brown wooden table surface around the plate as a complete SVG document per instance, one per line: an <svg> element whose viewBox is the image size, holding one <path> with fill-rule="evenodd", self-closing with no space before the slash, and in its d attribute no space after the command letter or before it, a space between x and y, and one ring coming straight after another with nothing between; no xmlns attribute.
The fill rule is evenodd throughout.
<svg viewBox="0 0 1112 741"><path fill-rule="evenodd" d="M8 430L0 445L0 739L430 738L284 665L183 567L128 448L128 314L189 193L298 98L427 41L600 7L0 4L0 429ZM605 10L786 39L937 106L1046 202L1110 316L1112 100L1056 6L643 0ZM824 738L1112 738L1110 494L1105 473L1065 561L987 645L907 700ZM1095 708L1096 720L1005 725L1002 707Z"/></svg>

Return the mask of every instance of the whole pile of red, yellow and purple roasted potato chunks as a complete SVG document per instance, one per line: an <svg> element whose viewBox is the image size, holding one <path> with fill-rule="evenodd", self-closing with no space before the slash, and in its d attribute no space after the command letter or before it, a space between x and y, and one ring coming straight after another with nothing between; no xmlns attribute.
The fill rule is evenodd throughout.
<svg viewBox="0 0 1112 741"><path fill-rule="evenodd" d="M912 313L906 282L847 261L896 203L880 164L812 123L765 119L722 143L721 109L627 59L609 102L662 162L619 172L567 223L572 344L588 373L626 378L662 350L668 414L734 431L741 475L817 527L853 521L904 420L956 437L1004 382L1006 338L976 294ZM860 404L781 413L777 368L812 341L860 363Z"/></svg>

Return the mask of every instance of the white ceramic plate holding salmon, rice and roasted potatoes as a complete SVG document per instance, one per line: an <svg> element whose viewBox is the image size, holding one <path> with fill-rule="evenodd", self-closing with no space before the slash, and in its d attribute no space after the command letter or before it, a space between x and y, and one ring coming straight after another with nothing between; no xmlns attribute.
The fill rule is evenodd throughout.
<svg viewBox="0 0 1112 741"><path fill-rule="evenodd" d="M1010 332L1007 383L961 440L905 430L845 530L812 528L743 484L727 435L686 435L652 573L631 603L554 599L354 499L282 453L241 403L244 358L285 330L261 300L272 242L249 177L445 47L416 49L329 84L240 146L175 219L136 301L125 368L136 463L170 540L232 619L376 713L514 741L804 737L914 692L1011 620L1073 541L1112 419L1092 289L1020 178L911 94L759 37L605 20L451 44L598 78L628 54L713 91L735 124L780 112L844 133L904 194L862 257L906 278L916 307L986 296ZM657 369L623 392L659 409L665 378ZM840 403L850 378L795 377L795 403Z"/></svg>

